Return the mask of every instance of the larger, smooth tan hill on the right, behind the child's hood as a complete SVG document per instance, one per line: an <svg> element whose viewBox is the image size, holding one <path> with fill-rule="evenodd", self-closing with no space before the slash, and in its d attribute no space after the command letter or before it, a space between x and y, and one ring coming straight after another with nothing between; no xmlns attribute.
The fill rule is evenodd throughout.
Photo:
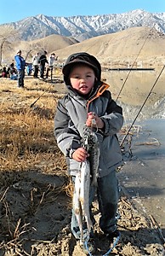
<svg viewBox="0 0 165 256"><path fill-rule="evenodd" d="M141 61L148 64L162 64L165 59L165 35L149 27L133 27L96 38L90 38L79 44L57 50L60 60L74 52L87 51L95 55L102 63L112 65Z"/></svg>

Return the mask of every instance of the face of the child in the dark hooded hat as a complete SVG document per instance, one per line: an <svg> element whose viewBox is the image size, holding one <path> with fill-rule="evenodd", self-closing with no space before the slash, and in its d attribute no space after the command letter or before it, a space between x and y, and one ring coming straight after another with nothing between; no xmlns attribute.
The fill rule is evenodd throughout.
<svg viewBox="0 0 165 256"><path fill-rule="evenodd" d="M94 70L84 65L73 67L70 73L70 81L72 88L83 95L87 95L94 86Z"/></svg>

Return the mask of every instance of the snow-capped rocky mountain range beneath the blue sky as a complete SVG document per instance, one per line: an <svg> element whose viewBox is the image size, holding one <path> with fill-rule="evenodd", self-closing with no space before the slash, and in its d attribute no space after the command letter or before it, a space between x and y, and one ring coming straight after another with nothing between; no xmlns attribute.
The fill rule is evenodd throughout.
<svg viewBox="0 0 165 256"><path fill-rule="evenodd" d="M22 40L33 40L58 34L83 41L135 26L155 27L158 32L165 33L165 13L149 13L142 9L136 9L112 15L77 15L71 17L37 15L8 23L8 25L19 30Z"/></svg>

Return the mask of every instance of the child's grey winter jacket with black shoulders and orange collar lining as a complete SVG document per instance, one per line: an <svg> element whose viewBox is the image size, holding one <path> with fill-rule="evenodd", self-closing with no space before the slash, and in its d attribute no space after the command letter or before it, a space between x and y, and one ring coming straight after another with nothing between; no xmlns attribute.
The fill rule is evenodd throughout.
<svg viewBox="0 0 165 256"><path fill-rule="evenodd" d="M94 112L104 121L103 131L95 131L100 144L99 177L109 174L122 164L121 148L117 132L122 128L122 108L111 99L109 85L102 82L94 85L94 92L88 99L79 96L71 86L57 106L54 118L54 136L60 150L65 154L68 171L75 176L80 163L71 159L74 149L81 147L83 126L87 113Z"/></svg>

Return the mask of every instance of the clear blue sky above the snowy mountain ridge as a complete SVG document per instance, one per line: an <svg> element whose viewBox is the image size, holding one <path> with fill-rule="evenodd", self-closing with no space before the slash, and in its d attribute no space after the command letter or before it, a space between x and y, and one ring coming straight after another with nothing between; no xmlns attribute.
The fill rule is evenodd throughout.
<svg viewBox="0 0 165 256"><path fill-rule="evenodd" d="M0 4L0 24L36 15L109 15L145 9L165 12L165 0L8 0Z"/></svg>

